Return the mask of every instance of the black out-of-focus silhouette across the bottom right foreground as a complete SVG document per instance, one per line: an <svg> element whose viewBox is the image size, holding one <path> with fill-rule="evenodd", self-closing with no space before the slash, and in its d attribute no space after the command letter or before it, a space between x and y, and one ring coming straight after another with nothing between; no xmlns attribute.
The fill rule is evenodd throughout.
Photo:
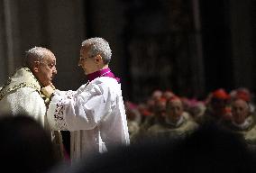
<svg viewBox="0 0 256 173"><path fill-rule="evenodd" d="M167 138L144 141L52 173L255 173L255 169L255 153L239 136L205 126L178 143Z"/></svg>

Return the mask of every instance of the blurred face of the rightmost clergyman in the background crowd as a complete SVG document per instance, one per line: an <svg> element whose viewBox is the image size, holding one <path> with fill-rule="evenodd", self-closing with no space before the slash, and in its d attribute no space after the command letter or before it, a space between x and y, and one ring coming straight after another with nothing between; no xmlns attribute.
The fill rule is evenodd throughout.
<svg viewBox="0 0 256 173"><path fill-rule="evenodd" d="M249 114L249 105L242 99L235 100L232 105L233 121L243 123Z"/></svg>

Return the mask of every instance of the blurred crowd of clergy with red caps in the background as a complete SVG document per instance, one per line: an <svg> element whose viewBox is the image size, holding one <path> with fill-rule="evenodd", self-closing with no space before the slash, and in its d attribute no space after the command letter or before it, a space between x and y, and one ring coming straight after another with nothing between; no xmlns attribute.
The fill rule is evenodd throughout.
<svg viewBox="0 0 256 173"><path fill-rule="evenodd" d="M203 124L215 123L241 135L253 149L256 145L253 98L246 87L231 92L218 88L201 100L155 90L144 103L125 102L131 142L156 136L182 139Z"/></svg>

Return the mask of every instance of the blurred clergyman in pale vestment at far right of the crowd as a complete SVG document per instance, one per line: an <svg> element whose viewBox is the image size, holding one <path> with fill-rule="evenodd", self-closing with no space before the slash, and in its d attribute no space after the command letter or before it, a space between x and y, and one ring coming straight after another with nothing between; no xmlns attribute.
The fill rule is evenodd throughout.
<svg viewBox="0 0 256 173"><path fill-rule="evenodd" d="M256 121L255 114L250 112L249 104L242 98L232 102L232 121L225 123L225 127L242 135L249 147L256 149Z"/></svg>

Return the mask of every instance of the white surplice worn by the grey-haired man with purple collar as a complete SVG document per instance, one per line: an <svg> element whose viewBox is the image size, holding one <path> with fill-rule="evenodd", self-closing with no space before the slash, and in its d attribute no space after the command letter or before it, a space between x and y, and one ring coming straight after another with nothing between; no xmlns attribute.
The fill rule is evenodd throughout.
<svg viewBox="0 0 256 173"><path fill-rule="evenodd" d="M130 143L121 85L112 77L97 77L77 91L56 90L47 118L54 130L71 131L72 161Z"/></svg>

